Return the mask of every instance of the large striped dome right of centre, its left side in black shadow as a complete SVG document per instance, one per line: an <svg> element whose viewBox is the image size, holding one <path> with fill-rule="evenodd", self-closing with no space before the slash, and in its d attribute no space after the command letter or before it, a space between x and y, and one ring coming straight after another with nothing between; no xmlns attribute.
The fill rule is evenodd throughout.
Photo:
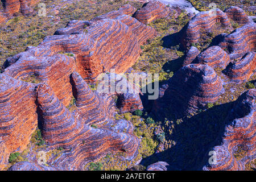
<svg viewBox="0 0 256 182"><path fill-rule="evenodd" d="M222 92L221 78L213 68L204 64L189 64L168 80L164 95L155 101L153 111L172 108L176 117L195 113L208 102L218 100Z"/></svg>

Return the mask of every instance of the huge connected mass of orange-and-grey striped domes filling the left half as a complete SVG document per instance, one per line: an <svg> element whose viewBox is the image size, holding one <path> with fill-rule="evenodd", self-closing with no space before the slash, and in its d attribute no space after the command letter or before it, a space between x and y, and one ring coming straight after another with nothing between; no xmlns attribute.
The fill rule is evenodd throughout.
<svg viewBox="0 0 256 182"><path fill-rule="evenodd" d="M0 74L1 168L11 152L26 148L38 122L49 148L65 149L60 159L51 161L52 167L82 169L85 163L117 151L133 159L139 141L129 121L111 119L115 102L110 97L122 98L121 110L133 111L143 108L139 94L99 94L84 81L110 69L125 72L137 60L140 44L155 36L154 29L128 17L134 9L121 10L128 15L82 24L72 21L62 33L57 31L62 35L48 36L38 47L28 47L5 61ZM22 81L32 76L40 84ZM73 96L77 110L71 113L65 106Z"/></svg>

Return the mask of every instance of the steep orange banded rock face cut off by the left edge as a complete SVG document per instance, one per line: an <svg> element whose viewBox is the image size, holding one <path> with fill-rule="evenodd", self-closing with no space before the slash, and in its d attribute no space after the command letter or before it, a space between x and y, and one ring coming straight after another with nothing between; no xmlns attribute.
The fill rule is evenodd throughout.
<svg viewBox="0 0 256 182"><path fill-rule="evenodd" d="M23 151L37 126L35 84L0 74L1 166L11 152Z"/></svg>

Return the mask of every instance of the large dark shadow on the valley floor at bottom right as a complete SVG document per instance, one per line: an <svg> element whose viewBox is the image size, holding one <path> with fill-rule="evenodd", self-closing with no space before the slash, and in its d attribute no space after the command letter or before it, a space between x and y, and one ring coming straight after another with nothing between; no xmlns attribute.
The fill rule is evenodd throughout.
<svg viewBox="0 0 256 182"><path fill-rule="evenodd" d="M209 151L221 144L225 125L230 124L225 123L225 118L233 103L214 106L191 118L185 118L179 124L175 123L172 134L166 137L174 140L175 146L144 158L141 164L148 166L164 161L170 164L168 170L201 170L208 163Z"/></svg>

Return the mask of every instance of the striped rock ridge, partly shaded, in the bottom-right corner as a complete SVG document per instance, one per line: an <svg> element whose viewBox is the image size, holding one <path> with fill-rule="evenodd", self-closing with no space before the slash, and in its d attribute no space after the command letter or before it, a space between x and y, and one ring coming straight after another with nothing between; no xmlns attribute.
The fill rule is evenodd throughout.
<svg viewBox="0 0 256 182"><path fill-rule="evenodd" d="M204 170L245 170L245 164L255 159L255 98L256 90L250 89L237 99L230 111L222 144L213 148L216 161L204 166ZM239 160L234 156L238 147L245 151Z"/></svg>

